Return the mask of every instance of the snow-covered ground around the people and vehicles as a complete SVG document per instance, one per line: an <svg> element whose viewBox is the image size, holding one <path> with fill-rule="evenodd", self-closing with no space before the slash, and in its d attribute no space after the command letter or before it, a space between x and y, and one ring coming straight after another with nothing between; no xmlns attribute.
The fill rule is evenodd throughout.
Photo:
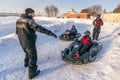
<svg viewBox="0 0 120 80"><path fill-rule="evenodd" d="M0 80L28 80L23 67L24 56L15 31L18 17L0 17ZM92 19L57 19L35 17L35 21L59 36L74 24L78 32L92 32ZM99 37L103 49L97 60L83 65L67 64L61 60L64 42L37 32L38 69L34 80L120 80L120 23L104 23Z"/></svg>

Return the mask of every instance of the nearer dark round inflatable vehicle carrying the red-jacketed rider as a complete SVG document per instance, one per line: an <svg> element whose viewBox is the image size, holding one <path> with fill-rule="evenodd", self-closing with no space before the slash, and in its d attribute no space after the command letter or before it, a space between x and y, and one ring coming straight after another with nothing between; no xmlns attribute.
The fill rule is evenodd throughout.
<svg viewBox="0 0 120 80"><path fill-rule="evenodd" d="M102 46L101 42L93 42L89 51L86 51L79 58L76 58L74 55L79 52L81 43L75 41L61 51L62 60L72 64L86 64L93 62L95 61L98 52L102 49Z"/></svg>

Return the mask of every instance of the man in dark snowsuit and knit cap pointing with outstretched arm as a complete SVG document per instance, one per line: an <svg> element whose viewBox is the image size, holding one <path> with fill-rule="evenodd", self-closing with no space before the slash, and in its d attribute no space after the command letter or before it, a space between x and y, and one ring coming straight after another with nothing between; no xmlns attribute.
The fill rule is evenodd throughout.
<svg viewBox="0 0 120 80"><path fill-rule="evenodd" d="M16 22L16 33L18 34L20 44L26 54L24 66L28 67L30 79L34 78L40 73L40 70L37 70L36 65L36 31L57 38L57 36L50 30L38 25L33 19L34 15L34 10L27 8L25 9L25 14L22 14L20 19L18 19Z"/></svg>

